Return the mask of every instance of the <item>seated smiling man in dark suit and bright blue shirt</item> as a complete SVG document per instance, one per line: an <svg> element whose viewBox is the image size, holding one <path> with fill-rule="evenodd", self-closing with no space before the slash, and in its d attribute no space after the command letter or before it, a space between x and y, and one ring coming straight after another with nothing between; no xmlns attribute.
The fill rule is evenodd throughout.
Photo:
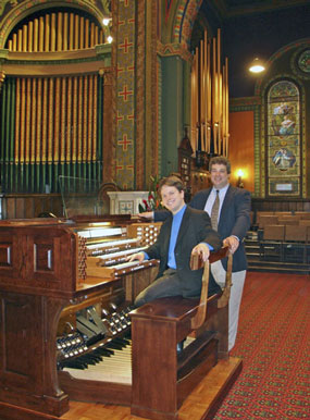
<svg viewBox="0 0 310 420"><path fill-rule="evenodd" d="M210 250L222 246L219 234L211 227L209 215L186 206L184 189L177 176L163 178L159 184L162 202L171 213L162 224L157 242L145 252L129 258L129 261L160 260L157 280L136 297L136 307L159 297L199 297L203 269L190 270L190 256L199 254L207 261ZM220 292L221 287L210 277L209 296Z"/></svg>

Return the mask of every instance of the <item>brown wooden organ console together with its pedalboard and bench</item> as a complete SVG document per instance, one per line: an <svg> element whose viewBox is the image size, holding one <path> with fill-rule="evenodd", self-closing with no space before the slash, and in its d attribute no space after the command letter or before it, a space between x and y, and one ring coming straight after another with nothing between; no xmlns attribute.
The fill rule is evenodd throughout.
<svg viewBox="0 0 310 420"><path fill-rule="evenodd" d="M218 310L218 297L210 300L208 322L181 356L176 343L193 332L195 299L159 299L133 310L158 261L128 264L126 258L156 240L159 230L123 215L0 222L1 419L62 418L70 399L177 418L201 375L227 357L227 307ZM168 363L169 383L178 390L159 410L141 391L152 362ZM161 382L149 384L160 398Z"/></svg>

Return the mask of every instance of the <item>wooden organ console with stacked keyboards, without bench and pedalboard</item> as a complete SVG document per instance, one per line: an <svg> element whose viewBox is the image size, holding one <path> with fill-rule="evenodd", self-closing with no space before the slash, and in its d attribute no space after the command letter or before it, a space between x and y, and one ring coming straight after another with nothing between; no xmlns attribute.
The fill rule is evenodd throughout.
<svg viewBox="0 0 310 420"><path fill-rule="evenodd" d="M87 368L127 346L133 300L154 279L158 265L149 260L124 268L124 255L141 249L140 239L128 236L128 217L1 222L0 410L4 402L15 418L24 418L24 409L61 416L69 396L59 387L57 368L65 381L65 369ZM139 227L153 231L156 239L158 223ZM89 274L98 256L107 263L102 272L98 268ZM74 395L70 382L63 388ZM88 385L85 397L91 399L94 384ZM123 397L115 393L116 402Z"/></svg>

